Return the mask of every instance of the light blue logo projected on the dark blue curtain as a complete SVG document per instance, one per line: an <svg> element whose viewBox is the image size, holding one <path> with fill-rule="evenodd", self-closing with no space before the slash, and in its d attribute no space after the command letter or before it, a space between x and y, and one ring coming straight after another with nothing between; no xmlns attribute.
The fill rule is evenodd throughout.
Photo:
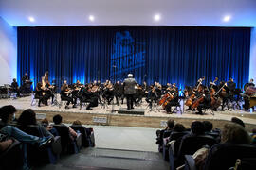
<svg viewBox="0 0 256 170"><path fill-rule="evenodd" d="M133 39L129 31L117 32L113 46L110 72L113 80L122 80L145 66L145 42Z"/></svg>

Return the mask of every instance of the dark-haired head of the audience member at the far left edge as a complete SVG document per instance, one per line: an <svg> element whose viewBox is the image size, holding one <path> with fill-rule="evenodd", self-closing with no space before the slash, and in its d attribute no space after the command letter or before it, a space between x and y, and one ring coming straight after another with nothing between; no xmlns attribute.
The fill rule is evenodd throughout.
<svg viewBox="0 0 256 170"><path fill-rule="evenodd" d="M12 105L3 106L0 108L0 117L2 122L9 123L15 116L16 109Z"/></svg>

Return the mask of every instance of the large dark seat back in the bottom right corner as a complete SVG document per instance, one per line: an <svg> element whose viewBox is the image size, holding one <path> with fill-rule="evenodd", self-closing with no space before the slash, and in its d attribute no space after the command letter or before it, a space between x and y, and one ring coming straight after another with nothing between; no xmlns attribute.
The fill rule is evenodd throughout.
<svg viewBox="0 0 256 170"><path fill-rule="evenodd" d="M215 144L211 147L205 169L227 170L237 159L256 158L256 146L250 144Z"/></svg>

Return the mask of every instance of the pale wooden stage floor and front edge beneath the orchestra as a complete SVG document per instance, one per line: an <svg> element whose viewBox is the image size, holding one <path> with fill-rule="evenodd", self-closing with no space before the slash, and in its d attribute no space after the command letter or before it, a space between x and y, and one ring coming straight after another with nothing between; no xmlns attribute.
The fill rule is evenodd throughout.
<svg viewBox="0 0 256 170"><path fill-rule="evenodd" d="M223 125L230 121L231 117L236 116L242 119L246 123L247 130L256 128L256 112L248 112L245 110L225 110L225 111L214 111L214 115L207 111L204 115L195 114L195 111L183 110L183 103L181 103L182 114L178 110L176 113L167 114L161 106L153 107L150 109L148 104L144 101L140 106L136 106L135 110L129 110L128 112L118 113L118 110L125 111L126 104L108 105L93 108L93 110L85 110L86 107L71 108L66 110L64 105L59 108L59 106L43 106L38 107L37 104L31 106L32 96L22 97L22 98L9 98L1 99L0 106L13 105L18 110L16 116L18 117L22 110L28 108L33 109L37 113L37 118L43 119L48 118L52 122L52 117L55 114L61 114L64 119L64 123L72 123L75 120L80 120L84 125L102 125L102 126L119 126L119 127L154 127L161 128L165 126L165 122L169 118L173 118L176 122L182 123L185 127L190 127L193 120L210 120L214 127L222 128ZM60 96L58 96L58 101L60 101ZM137 114L137 110L143 111L144 115Z"/></svg>

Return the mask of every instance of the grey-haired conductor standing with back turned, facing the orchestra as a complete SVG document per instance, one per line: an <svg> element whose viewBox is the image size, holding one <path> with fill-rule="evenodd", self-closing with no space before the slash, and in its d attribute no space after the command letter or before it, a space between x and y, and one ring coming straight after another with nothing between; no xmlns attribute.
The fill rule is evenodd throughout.
<svg viewBox="0 0 256 170"><path fill-rule="evenodd" d="M136 93L137 82L135 78L133 78L132 74L128 74L128 78L125 78L123 81L124 94L127 100L127 110L134 109L134 94Z"/></svg>

